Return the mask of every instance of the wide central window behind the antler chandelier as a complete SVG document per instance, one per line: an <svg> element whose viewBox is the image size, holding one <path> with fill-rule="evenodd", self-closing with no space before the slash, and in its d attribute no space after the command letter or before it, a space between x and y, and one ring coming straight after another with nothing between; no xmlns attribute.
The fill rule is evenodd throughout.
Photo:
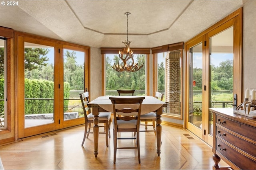
<svg viewBox="0 0 256 170"><path fill-rule="evenodd" d="M144 63L136 72L117 72L112 68L114 63L122 63L118 57L119 48L101 48L102 53L102 95L118 95L116 90L136 90L135 96L147 95L147 59L149 48L133 48L134 63Z"/></svg>

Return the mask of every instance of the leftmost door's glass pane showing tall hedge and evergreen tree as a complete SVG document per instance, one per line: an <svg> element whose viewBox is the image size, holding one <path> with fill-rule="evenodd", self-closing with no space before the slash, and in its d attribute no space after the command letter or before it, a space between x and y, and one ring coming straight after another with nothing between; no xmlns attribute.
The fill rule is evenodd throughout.
<svg viewBox="0 0 256 170"><path fill-rule="evenodd" d="M25 128L54 123L54 47L24 43Z"/></svg>

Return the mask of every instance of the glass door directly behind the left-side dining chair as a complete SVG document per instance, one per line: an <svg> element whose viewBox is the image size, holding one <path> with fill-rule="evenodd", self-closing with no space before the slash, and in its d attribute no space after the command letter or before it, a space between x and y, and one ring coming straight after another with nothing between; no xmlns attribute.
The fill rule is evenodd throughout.
<svg viewBox="0 0 256 170"><path fill-rule="evenodd" d="M63 127L84 123L80 93L88 90L88 57L83 48L63 45ZM85 82L86 81L86 82ZM85 86L86 84L86 86Z"/></svg>

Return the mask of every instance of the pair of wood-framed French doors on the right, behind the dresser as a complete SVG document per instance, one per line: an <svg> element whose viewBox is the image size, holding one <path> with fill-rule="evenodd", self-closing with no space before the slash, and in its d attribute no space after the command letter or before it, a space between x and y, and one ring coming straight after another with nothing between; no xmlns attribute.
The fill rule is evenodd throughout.
<svg viewBox="0 0 256 170"><path fill-rule="evenodd" d="M242 98L239 20L235 16L186 43L186 128L210 145L209 108L235 107Z"/></svg>

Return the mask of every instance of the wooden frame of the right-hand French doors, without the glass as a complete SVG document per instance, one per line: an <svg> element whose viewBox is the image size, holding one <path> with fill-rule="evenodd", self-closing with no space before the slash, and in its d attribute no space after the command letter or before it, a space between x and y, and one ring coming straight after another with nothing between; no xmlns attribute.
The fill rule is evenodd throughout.
<svg viewBox="0 0 256 170"><path fill-rule="evenodd" d="M184 108L184 113L186 114L185 116L185 124L186 124L186 128L189 129L189 123L188 123L188 116L189 116L189 70L188 70L188 66L189 66L189 48L192 47L192 43L194 41L196 41L197 39L202 39L202 41L206 41L206 47L205 49L203 49L203 55L205 54L205 66L206 63L209 63L209 37L211 37L213 34L216 34L217 32L223 31L225 30L227 27L229 26L234 26L234 43L233 43L233 48L234 48L234 84L236 84L236 86L234 86L233 88L233 94L237 94L238 98L237 98L237 104L240 104L243 100L243 93L242 93L242 89L243 89L243 85L242 85L242 14L243 14L243 8L239 8L238 10L236 10L235 12L233 12L232 14L230 14L229 16L227 16L226 18L222 19L221 21L217 22L216 24L212 25L211 27L209 27L208 29L206 29L205 31L203 31L202 33L196 35L195 37L193 37L192 39L190 39L189 41L187 41L185 43L185 50L186 50L186 57L185 57L185 67L186 67L186 76L185 76L185 108ZM203 38L204 37L204 38ZM203 56L204 57L204 56ZM205 71L209 72L209 68L206 67ZM204 75L203 76L203 81L204 81L204 85L206 85L206 93L207 95L204 96L204 100L209 101L209 75ZM203 82L202 82L203 83ZM238 86L237 86L238 85ZM205 94L205 93L204 93ZM203 94L202 94L203 95ZM233 99L234 100L234 99ZM233 101L234 102L234 101ZM209 106L203 106L202 110L204 111L204 113L208 113L208 108ZM203 116L202 120L206 120L209 118L209 115ZM206 130L206 133L204 135L204 133L202 132L202 137L200 137L200 134L196 133L196 135L200 138L202 138L204 141L207 141L210 144L210 139L212 139L212 136L208 134L208 125L205 123L204 125Z"/></svg>

